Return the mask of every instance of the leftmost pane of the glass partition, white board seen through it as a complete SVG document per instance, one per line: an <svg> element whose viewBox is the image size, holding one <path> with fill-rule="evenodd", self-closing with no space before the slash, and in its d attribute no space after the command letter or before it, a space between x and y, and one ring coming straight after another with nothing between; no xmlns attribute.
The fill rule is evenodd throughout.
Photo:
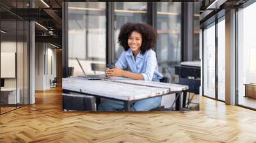
<svg viewBox="0 0 256 143"><path fill-rule="evenodd" d="M17 21L1 21L1 113L16 109L17 94ZM17 96L18 95L18 96Z"/></svg>

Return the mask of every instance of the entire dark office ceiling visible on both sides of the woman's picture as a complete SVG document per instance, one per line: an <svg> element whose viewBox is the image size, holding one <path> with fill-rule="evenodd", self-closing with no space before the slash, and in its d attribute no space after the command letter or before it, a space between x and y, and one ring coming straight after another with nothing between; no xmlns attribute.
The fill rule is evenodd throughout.
<svg viewBox="0 0 256 143"><path fill-rule="evenodd" d="M30 3L29 0L1 0L1 20L12 21L17 18L25 20L35 20L38 23L35 26L36 41L56 43L56 45L59 45L61 47L61 6L63 1L68 0L30 0ZM172 1L180 2L182 0ZM211 19L211 17L213 17L219 11L234 8L234 6L239 6L246 1L248 0L183 0L183 2L200 3L200 26L205 23L205 21ZM4 22L4 24L8 25L8 22ZM12 26L12 24L10 24L10 26Z"/></svg>

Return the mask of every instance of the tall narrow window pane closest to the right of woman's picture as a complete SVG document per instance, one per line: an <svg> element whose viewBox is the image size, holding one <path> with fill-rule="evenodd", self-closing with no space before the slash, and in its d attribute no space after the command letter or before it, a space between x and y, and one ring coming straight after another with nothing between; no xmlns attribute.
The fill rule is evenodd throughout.
<svg viewBox="0 0 256 143"><path fill-rule="evenodd" d="M215 98L215 23L204 29L204 95Z"/></svg>

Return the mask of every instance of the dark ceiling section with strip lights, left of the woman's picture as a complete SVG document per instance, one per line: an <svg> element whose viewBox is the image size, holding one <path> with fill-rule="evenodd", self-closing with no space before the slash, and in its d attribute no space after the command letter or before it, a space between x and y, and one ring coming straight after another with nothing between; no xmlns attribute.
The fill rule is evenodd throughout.
<svg viewBox="0 0 256 143"><path fill-rule="evenodd" d="M13 27L13 20L33 20L35 24L36 41L51 42L54 45L61 47L61 29L62 29L62 8L61 4L65 0L1 0L0 1L0 15L2 25L4 24L6 33L4 36L12 37L18 34L22 29L18 28L15 33L15 26ZM19 22L18 22L19 25Z"/></svg>

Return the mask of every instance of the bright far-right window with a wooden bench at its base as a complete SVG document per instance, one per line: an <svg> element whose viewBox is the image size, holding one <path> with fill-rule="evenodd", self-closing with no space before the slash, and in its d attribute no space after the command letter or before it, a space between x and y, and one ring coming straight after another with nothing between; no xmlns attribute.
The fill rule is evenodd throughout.
<svg viewBox="0 0 256 143"><path fill-rule="evenodd" d="M237 12L237 87L238 104L256 109L256 40L253 19L256 13L256 3L240 9ZM252 84L246 90L245 84ZM247 93L246 93L247 91Z"/></svg>

